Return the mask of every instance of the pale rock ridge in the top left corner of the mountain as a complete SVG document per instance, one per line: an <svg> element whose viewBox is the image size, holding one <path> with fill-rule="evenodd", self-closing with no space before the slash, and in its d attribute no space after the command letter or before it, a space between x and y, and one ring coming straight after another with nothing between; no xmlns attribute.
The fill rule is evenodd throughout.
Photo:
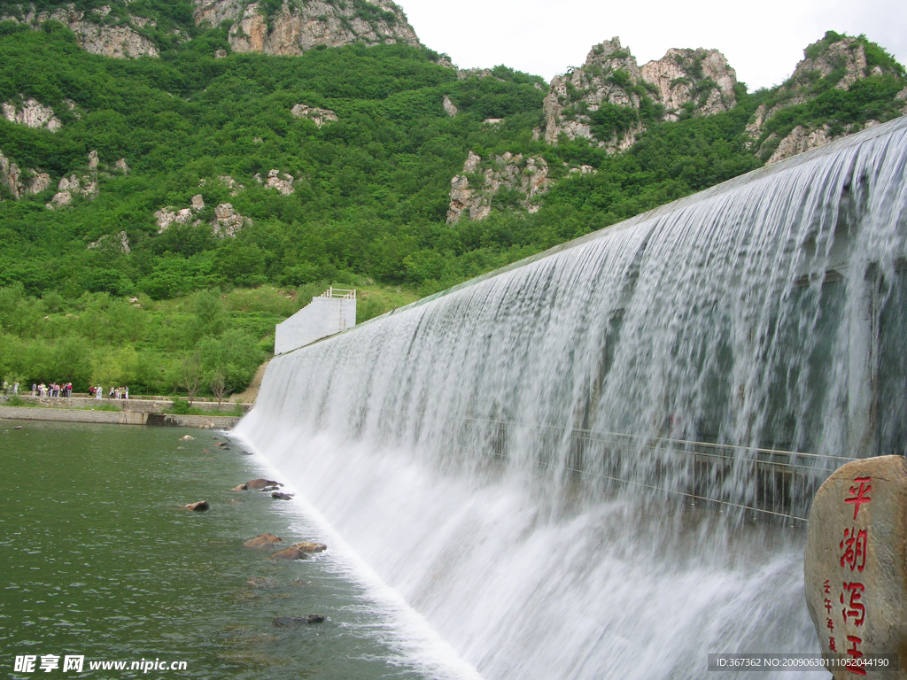
<svg viewBox="0 0 907 680"><path fill-rule="evenodd" d="M34 6L19 5L18 12L0 16L0 21L12 21L16 24L19 22L44 24L47 21L56 21L69 27L75 34L76 43L85 52L102 54L114 59L158 56L158 48L129 23L108 23L107 16L110 11L110 6L103 5L86 14L71 3L53 11L35 12ZM132 17L132 23L141 27L148 24L149 20Z"/></svg>

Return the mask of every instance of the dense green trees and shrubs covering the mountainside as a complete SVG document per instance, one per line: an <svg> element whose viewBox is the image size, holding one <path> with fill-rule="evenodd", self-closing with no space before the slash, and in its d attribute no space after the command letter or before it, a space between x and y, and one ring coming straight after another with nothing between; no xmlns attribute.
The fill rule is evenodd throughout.
<svg viewBox="0 0 907 680"><path fill-rule="evenodd" d="M53 22L38 31L0 23L0 102L34 98L63 122L53 133L0 119L0 151L54 180L19 200L0 188L4 376L186 393L194 372L201 390L217 381L239 389L297 300L331 284L372 286L359 317L375 316L753 170L763 160L746 123L760 103L784 96L741 88L730 112L661 123L660 106L643 88L639 112L602 106L591 115L606 137L640 121L648 127L628 152L611 156L585 141L533 140L547 92L536 76L499 66L492 77L458 80L435 53L405 45L216 59L217 50L229 52L225 28L195 27L188 2L135 0L130 11L140 3L142 15L157 17L146 35L161 46L160 59L85 53ZM112 7L117 16L126 11L125 3ZM190 39L174 39L167 33L174 26ZM866 45L868 58L891 59ZM904 83L902 70L885 63L885 74L848 91L827 79L811 83L814 97L778 113L765 137L796 124L838 129L891 117ZM445 95L458 116L445 114ZM290 113L297 103L330 109L338 121L318 128ZM504 121L483 124L487 118ZM86 171L89 151L102 164L99 196L45 209L61 177ZM490 218L447 225L450 180L468 151L541 155L559 181L534 214L502 191ZM120 158L128 175L112 170ZM568 176L580 164L597 173ZM296 180L291 195L255 179L272 169ZM233 195L219 180L226 175L244 189ZM188 208L196 194L205 203L192 218L199 223L159 234L153 213ZM210 228L215 206L228 202L253 220L236 238ZM112 238L121 231L129 253ZM241 290L266 284L290 296ZM387 292L401 286L409 292ZM241 295L257 301L234 308Z"/></svg>

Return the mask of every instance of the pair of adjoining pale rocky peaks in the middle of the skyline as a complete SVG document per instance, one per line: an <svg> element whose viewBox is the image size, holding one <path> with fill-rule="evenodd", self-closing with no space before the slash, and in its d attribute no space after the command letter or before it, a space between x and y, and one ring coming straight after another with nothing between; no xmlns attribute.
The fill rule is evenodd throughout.
<svg viewBox="0 0 907 680"><path fill-rule="evenodd" d="M729 110L735 89L736 73L716 50L671 49L640 68L615 37L592 47L580 68L551 81L540 135L550 144L564 135L625 151L647 121Z"/></svg>

